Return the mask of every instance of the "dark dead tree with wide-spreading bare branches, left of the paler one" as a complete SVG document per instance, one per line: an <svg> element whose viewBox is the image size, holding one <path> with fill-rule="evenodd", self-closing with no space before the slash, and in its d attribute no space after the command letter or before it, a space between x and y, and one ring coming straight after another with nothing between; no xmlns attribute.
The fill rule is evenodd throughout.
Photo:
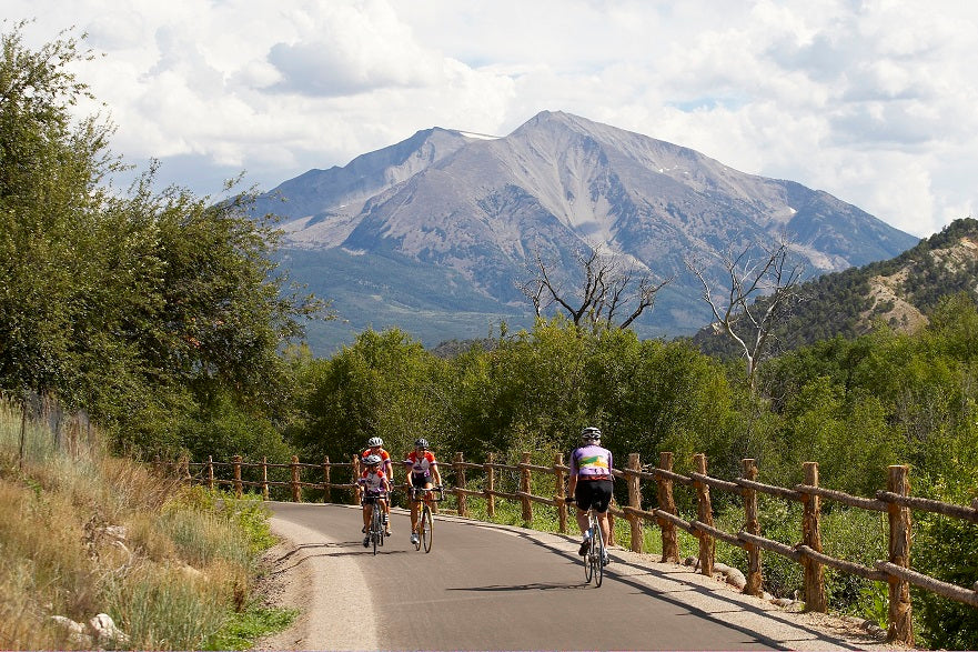
<svg viewBox="0 0 978 652"><path fill-rule="evenodd" d="M604 253L601 245L577 252L577 264L583 271L584 283L579 289L566 290L556 279L553 265L543 257L535 255L534 278L517 284L533 303L537 317L557 305L575 325L626 329L655 304L655 295L672 278L656 282L653 274L622 255ZM631 310L631 312L628 312Z"/></svg>

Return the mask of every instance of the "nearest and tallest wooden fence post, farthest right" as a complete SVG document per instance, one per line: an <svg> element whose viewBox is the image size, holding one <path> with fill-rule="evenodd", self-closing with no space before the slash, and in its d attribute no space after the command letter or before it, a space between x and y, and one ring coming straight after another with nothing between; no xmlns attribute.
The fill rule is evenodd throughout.
<svg viewBox="0 0 978 652"><path fill-rule="evenodd" d="M887 468L886 489L890 493L909 495L909 467L895 464ZM910 508L889 503L889 562L910 568ZM889 576L889 626L886 638L906 645L914 645L914 623L910 609L910 584L906 580Z"/></svg>

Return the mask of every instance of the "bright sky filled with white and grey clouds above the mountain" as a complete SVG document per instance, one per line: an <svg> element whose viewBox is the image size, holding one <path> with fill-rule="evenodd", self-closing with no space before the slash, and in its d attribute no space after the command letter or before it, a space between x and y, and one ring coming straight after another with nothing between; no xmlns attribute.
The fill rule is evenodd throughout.
<svg viewBox="0 0 978 652"><path fill-rule="evenodd" d="M978 203L974 0L0 0L74 27L112 149L215 195L420 129L561 110L825 190L915 235ZM9 27L9 22L8 26ZM4 31L7 31L4 29Z"/></svg>

